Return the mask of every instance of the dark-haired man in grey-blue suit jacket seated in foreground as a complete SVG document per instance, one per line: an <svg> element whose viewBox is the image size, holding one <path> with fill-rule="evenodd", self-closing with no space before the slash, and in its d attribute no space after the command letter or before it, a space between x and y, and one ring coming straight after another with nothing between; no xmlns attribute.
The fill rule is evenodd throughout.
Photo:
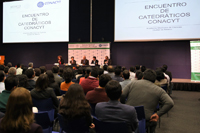
<svg viewBox="0 0 200 133"><path fill-rule="evenodd" d="M126 122L128 131L133 132L138 127L138 119L133 106L122 104L118 101L122 94L122 87L118 81L111 80L106 86L106 93L110 101L97 103L95 113L100 121Z"/></svg>

